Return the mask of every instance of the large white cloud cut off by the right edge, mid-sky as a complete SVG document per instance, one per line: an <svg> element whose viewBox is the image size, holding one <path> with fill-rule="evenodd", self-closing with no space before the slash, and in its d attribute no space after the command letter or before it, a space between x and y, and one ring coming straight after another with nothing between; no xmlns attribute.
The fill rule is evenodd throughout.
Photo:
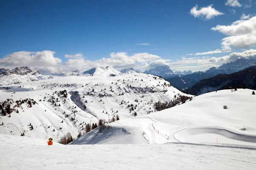
<svg viewBox="0 0 256 170"><path fill-rule="evenodd" d="M229 36L221 40L223 51L231 51L231 46L250 48L256 44L256 17L251 17L248 20L238 20L230 26L217 25L211 29Z"/></svg>

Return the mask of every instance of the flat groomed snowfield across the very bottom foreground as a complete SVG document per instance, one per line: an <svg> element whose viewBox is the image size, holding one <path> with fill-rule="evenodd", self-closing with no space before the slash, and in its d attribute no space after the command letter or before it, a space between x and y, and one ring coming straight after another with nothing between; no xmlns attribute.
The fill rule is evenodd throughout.
<svg viewBox="0 0 256 170"><path fill-rule="evenodd" d="M0 147L4 170L255 170L256 150L191 144Z"/></svg>

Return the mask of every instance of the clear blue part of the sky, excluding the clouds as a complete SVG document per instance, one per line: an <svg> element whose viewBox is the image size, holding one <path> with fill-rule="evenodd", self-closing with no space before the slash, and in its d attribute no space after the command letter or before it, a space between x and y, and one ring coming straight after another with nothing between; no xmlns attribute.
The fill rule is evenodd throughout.
<svg viewBox="0 0 256 170"><path fill-rule="evenodd" d="M111 53L127 53L128 57L147 53L159 56L153 57L153 60L158 59L168 64L181 60L186 54L216 49L222 53L189 57L222 57L232 52L242 52L244 48L237 48L237 45L230 45L230 52L224 51L221 40L229 34L211 29L217 25L229 26L240 20L242 14L250 14L247 20L254 16L254 0L231 1L237 1L240 5L236 2L225 4L227 0L1 1L0 66L16 66L8 64L11 59L3 58L19 51L54 51L54 54L51 53L53 57L61 59L58 65L64 64L68 59L75 59L72 56L64 57L65 54L79 54L80 58L93 62L111 58ZM213 5L211 7L222 14L209 19L204 14L200 15L201 11L197 11L200 16L195 17L191 9L196 5L197 10ZM209 11L211 8L205 10ZM253 45L254 42L246 48L252 48ZM32 55L34 54L31 53L28 57ZM145 62L149 65L153 60ZM140 67L141 63L136 63L134 66ZM145 66L144 62L143 65ZM169 65L172 68L175 64ZM192 71L205 70L207 67L192 67ZM174 69L184 70L186 67L174 66Z"/></svg>

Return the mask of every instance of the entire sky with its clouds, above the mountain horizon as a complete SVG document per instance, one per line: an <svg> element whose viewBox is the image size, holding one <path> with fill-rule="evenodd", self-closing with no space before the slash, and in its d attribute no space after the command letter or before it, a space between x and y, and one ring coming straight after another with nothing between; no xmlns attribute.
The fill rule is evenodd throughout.
<svg viewBox="0 0 256 170"><path fill-rule="evenodd" d="M256 0L1 0L0 68L205 71L256 57L255 11Z"/></svg>

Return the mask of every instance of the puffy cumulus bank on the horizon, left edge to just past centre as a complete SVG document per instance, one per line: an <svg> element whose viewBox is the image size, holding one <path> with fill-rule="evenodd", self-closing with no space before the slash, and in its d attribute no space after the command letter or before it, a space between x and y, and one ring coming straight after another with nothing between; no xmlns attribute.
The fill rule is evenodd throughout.
<svg viewBox="0 0 256 170"><path fill-rule="evenodd" d="M160 59L160 56L149 53L137 53L128 55L125 52L111 53L108 58L96 61L85 59L82 54L65 55L69 58L66 62L54 57L54 51L30 52L20 51L9 54L0 59L0 68L15 68L29 66L32 70L39 70L43 74L61 74L66 71L85 71L93 67L105 67L111 65L117 69L148 67L147 62Z"/></svg>

